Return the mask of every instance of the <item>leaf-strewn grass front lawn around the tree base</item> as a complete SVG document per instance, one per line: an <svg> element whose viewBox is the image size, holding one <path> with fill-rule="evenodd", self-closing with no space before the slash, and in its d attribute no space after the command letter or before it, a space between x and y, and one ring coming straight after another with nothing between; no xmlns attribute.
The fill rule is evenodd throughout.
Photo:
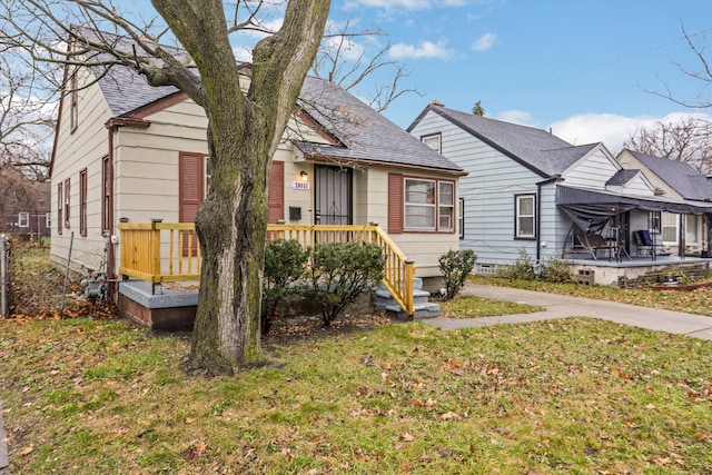
<svg viewBox="0 0 712 475"><path fill-rule="evenodd" d="M267 343L273 364L204 379L187 338L0 321L11 472L712 472L708 342L570 318Z"/></svg>

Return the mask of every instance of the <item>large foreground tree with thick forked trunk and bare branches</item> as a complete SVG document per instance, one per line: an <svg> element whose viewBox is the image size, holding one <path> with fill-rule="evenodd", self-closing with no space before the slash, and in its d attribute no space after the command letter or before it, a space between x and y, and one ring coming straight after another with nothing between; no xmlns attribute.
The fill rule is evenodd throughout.
<svg viewBox="0 0 712 475"><path fill-rule="evenodd" d="M156 19L139 24L110 1L0 0L0 40L24 47L37 60L66 53L62 62L70 68L132 68L151 86L174 86L205 109L212 176L196 218L202 267L189 366L231 374L260 360L267 174L319 48L330 2L284 3L283 27L253 50L247 91L230 36L264 31L267 0L151 3L168 29ZM85 34L86 28L72 23L118 33L123 42L113 34ZM161 46L168 32L182 53Z"/></svg>

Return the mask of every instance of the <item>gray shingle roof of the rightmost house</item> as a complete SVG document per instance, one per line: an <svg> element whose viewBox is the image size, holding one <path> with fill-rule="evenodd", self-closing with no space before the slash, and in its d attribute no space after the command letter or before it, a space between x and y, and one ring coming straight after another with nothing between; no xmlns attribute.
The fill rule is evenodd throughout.
<svg viewBox="0 0 712 475"><path fill-rule="evenodd" d="M639 151L627 151L685 199L698 201L712 199L712 181L689 164Z"/></svg>

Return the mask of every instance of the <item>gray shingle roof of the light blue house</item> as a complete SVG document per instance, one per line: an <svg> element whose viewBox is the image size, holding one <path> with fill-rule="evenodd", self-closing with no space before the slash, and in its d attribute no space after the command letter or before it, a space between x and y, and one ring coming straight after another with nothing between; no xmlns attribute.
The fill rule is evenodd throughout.
<svg viewBox="0 0 712 475"><path fill-rule="evenodd" d="M599 145L572 146L546 130L474 116L437 105L428 105L407 130L412 130L428 111L442 116L546 178L562 175Z"/></svg>

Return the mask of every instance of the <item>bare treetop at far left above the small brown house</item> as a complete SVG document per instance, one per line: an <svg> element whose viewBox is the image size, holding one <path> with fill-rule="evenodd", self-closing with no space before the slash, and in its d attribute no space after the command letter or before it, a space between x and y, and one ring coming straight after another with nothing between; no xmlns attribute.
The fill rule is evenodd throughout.
<svg viewBox="0 0 712 475"><path fill-rule="evenodd" d="M48 68L44 68L46 70ZM0 55L0 164L30 179L49 178L57 88L20 50Z"/></svg>

